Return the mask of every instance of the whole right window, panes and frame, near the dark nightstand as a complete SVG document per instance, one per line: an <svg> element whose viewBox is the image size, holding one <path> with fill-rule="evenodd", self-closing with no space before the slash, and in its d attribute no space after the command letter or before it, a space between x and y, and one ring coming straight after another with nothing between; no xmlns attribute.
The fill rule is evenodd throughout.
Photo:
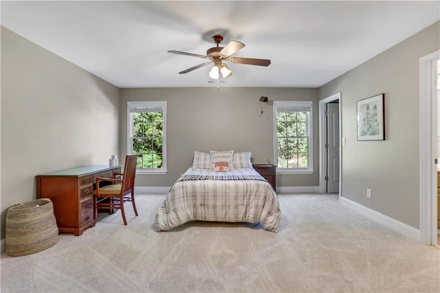
<svg viewBox="0 0 440 293"><path fill-rule="evenodd" d="M274 164L278 173L313 173L312 102L274 101Z"/></svg>

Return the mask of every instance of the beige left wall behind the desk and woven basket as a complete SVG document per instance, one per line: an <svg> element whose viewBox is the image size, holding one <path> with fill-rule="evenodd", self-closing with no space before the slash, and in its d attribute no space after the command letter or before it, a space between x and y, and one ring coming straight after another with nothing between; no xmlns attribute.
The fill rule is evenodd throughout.
<svg viewBox="0 0 440 293"><path fill-rule="evenodd" d="M119 89L1 27L1 239L34 176L109 164L118 152Z"/></svg>

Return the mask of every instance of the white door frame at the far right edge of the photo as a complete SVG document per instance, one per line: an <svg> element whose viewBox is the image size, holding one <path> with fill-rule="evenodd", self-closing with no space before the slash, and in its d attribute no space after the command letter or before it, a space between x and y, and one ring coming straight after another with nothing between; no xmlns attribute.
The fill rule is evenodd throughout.
<svg viewBox="0 0 440 293"><path fill-rule="evenodd" d="M437 244L437 76L440 50L419 59L420 67L420 241Z"/></svg>

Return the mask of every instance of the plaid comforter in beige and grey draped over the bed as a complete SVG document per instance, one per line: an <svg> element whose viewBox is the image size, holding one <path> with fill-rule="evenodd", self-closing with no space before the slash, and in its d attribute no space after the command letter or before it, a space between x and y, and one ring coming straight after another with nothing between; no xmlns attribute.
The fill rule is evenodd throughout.
<svg viewBox="0 0 440 293"><path fill-rule="evenodd" d="M278 196L254 169L215 172L188 169L171 188L156 215L156 230L188 221L260 222L276 232L281 219Z"/></svg>

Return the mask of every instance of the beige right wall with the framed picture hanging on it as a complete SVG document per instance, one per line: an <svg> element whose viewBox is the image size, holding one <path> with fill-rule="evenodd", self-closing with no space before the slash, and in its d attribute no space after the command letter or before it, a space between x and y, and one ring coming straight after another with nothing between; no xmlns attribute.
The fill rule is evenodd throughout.
<svg viewBox="0 0 440 293"><path fill-rule="evenodd" d="M419 228L419 58L439 50L439 22L320 87L342 92L342 196ZM358 142L356 101L385 94L385 141ZM366 197L371 188L371 199Z"/></svg>

